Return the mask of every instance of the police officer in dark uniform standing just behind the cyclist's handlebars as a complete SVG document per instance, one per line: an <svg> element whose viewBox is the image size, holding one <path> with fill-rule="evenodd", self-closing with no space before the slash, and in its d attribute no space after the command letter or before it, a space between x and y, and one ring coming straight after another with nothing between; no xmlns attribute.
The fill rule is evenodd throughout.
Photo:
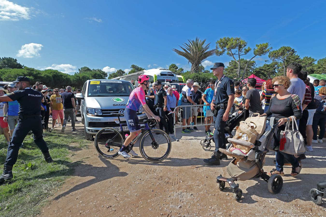
<svg viewBox="0 0 326 217"><path fill-rule="evenodd" d="M154 85L157 88L157 91L155 93L155 110L156 110L156 115L158 115L161 120L158 123L160 126L160 129L163 130L163 126L165 128L165 132L169 134L169 128L168 128L168 123L166 122L166 111L167 109L167 104L168 104L168 97L166 91L162 88L161 81L156 81Z"/></svg>

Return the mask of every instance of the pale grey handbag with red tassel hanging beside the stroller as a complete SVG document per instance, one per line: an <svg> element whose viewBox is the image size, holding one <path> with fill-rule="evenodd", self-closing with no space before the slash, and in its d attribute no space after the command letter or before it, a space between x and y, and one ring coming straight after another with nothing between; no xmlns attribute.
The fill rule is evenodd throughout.
<svg viewBox="0 0 326 217"><path fill-rule="evenodd" d="M304 145L304 138L302 137L301 133L298 130L298 124L294 118L294 116L291 116L292 118L292 129L289 129L290 122L287 123L285 130L281 130L280 133L280 146L279 151L290 154L290 155L300 155L306 153L307 149ZM294 122L294 123L293 123ZM294 129L295 125L295 129ZM284 147L282 145L282 141L285 143Z"/></svg>

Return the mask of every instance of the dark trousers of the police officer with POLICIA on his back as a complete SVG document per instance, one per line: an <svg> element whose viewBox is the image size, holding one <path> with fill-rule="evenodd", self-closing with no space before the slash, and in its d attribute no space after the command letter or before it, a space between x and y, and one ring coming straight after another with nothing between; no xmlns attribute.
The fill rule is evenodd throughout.
<svg viewBox="0 0 326 217"><path fill-rule="evenodd" d="M24 117L19 119L12 134L12 139L8 145L7 158L5 165L14 165L18 158L19 148L28 132L32 130L35 144L42 153L48 152L49 148L43 139L42 122L40 116Z"/></svg>

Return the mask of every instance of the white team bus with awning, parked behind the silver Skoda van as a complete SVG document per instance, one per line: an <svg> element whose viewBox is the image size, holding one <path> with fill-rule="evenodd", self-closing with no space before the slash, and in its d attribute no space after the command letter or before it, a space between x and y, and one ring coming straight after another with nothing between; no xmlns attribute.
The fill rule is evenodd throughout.
<svg viewBox="0 0 326 217"><path fill-rule="evenodd" d="M179 82L179 79L181 79L182 82L185 82L185 78L182 75L175 75L173 72L171 72L168 69L149 69L149 70L143 70L140 72L135 72L128 75L122 75L119 77L115 77L112 79L117 80L126 80L130 81L132 84L134 84L136 87L138 86L137 78L139 75L148 75L149 81L152 83L154 81L162 81L162 82Z"/></svg>

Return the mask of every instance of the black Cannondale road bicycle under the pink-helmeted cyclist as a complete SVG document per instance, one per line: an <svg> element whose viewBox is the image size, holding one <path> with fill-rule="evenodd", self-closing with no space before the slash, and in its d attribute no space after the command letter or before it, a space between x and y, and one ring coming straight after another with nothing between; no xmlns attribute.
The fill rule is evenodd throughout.
<svg viewBox="0 0 326 217"><path fill-rule="evenodd" d="M119 156L118 151L125 141L125 132L122 127L127 126L127 124L121 124L120 116L123 116L123 114L111 113L111 115L118 117L120 131L111 127L106 127L100 129L94 139L96 151L100 156L107 159L113 159ZM153 121L156 120L151 118L139 122L139 124L145 124L145 128L130 142L126 152L128 153L137 139L141 137L139 143L141 155L147 161L157 163L167 158L170 154L171 139L163 130L150 129L148 125Z"/></svg>

